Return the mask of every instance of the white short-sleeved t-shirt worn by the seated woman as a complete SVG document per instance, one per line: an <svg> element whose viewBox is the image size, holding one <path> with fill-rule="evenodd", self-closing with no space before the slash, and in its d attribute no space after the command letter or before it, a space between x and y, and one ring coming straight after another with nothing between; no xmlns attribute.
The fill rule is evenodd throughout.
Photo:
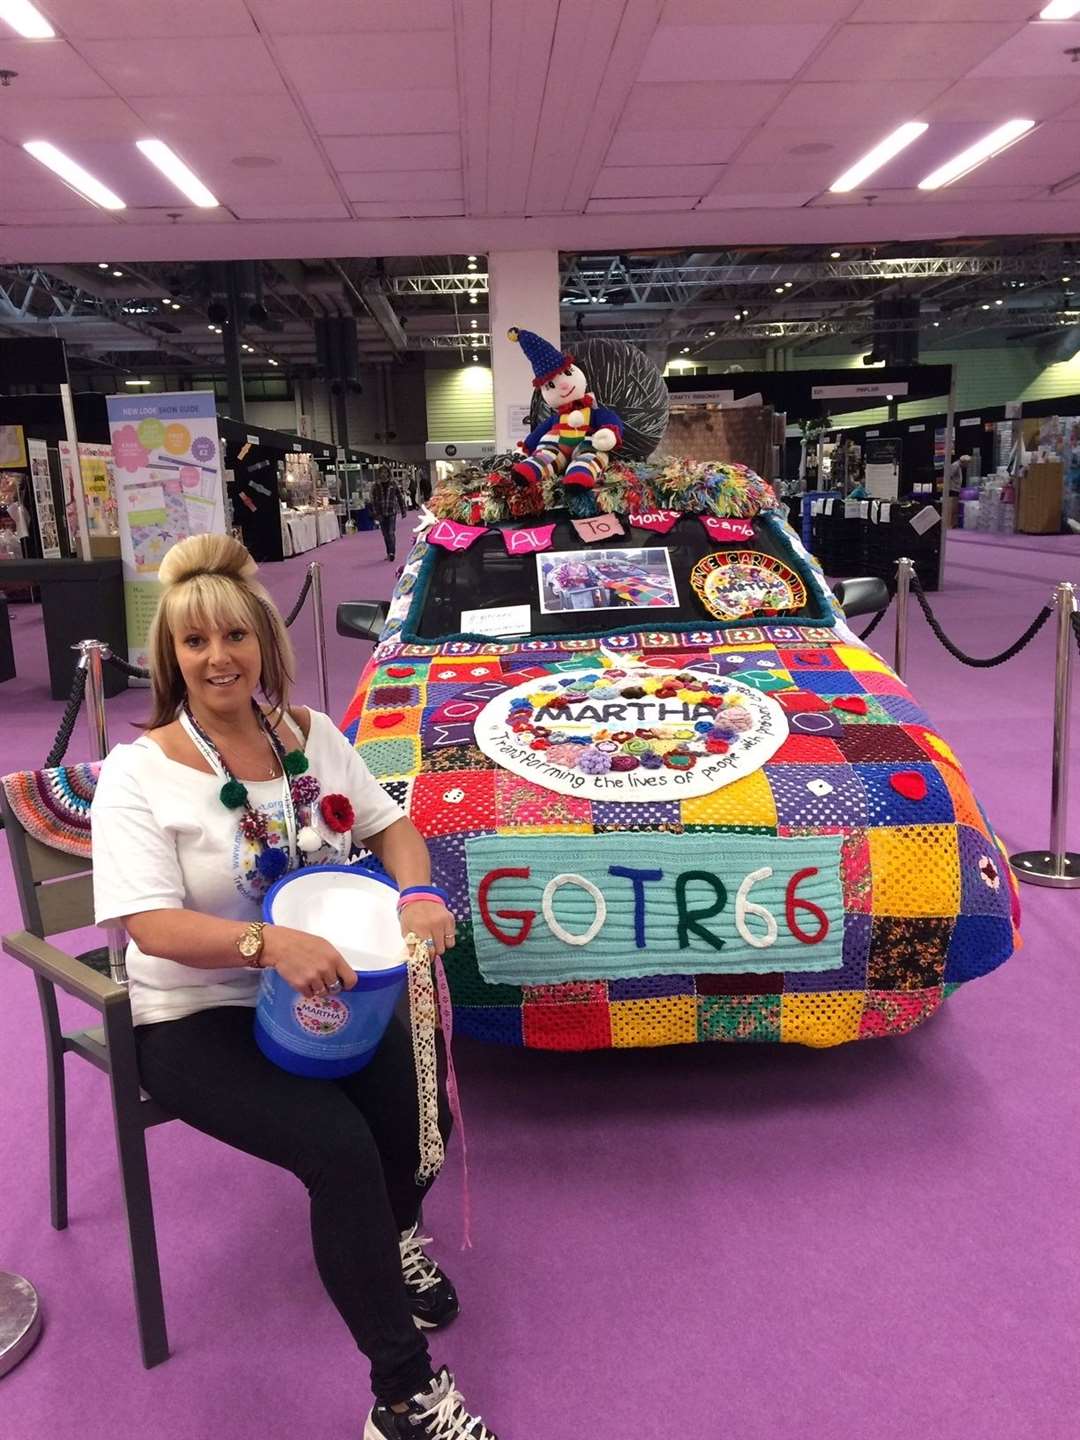
<svg viewBox="0 0 1080 1440"><path fill-rule="evenodd" d="M317 710L311 711L305 752L321 795L348 796L357 842L402 818L403 811L333 720ZM245 785L284 844L281 779ZM219 776L171 760L147 736L109 752L91 806L98 924L117 924L143 910L199 910L225 920L261 917L265 884L251 878L256 851L239 834L240 812L222 805L220 788ZM308 858L337 857L315 852ZM255 1005L258 999L258 971L242 965L200 969L144 955L128 940L127 966L137 1025L212 1005Z"/></svg>

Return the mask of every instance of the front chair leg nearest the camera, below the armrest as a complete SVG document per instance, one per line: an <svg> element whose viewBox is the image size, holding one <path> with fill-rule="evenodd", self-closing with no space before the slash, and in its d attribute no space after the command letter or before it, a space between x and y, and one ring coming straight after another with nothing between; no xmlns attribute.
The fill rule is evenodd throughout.
<svg viewBox="0 0 1080 1440"><path fill-rule="evenodd" d="M157 1259L157 1231L147 1165L147 1135L138 1090L135 1038L131 1025L131 1007L127 999L107 1007L105 1040L109 1050L112 1116L117 1128L117 1155L128 1221L138 1339L143 1349L143 1364L150 1369L168 1358L168 1335L161 1296L161 1270Z"/></svg>

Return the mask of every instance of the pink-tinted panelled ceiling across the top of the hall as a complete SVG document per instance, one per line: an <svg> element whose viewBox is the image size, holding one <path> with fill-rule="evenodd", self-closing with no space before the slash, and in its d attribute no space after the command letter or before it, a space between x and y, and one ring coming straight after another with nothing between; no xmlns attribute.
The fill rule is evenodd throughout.
<svg viewBox="0 0 1080 1440"><path fill-rule="evenodd" d="M1043 20L1047 0L35 3L50 39L0 19L7 264L922 253L1080 229L1080 12ZM920 189L1018 120L1034 124L1011 148ZM914 122L887 164L831 190ZM145 140L220 203L186 200ZM23 148L40 141L124 209L56 179Z"/></svg>

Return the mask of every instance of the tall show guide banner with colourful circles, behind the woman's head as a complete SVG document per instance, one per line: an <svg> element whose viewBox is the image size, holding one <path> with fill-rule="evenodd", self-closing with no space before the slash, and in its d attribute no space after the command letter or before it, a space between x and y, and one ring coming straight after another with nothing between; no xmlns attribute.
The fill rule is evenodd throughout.
<svg viewBox="0 0 1080 1440"><path fill-rule="evenodd" d="M111 395L107 405L128 658L145 665L166 552L189 536L225 534L217 409L210 390Z"/></svg>

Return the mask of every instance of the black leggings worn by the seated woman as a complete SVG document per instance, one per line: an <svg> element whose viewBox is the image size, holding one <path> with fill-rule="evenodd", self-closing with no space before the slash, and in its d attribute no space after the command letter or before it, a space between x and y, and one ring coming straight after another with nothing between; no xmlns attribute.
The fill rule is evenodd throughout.
<svg viewBox="0 0 1080 1440"><path fill-rule="evenodd" d="M255 1044L252 1011L219 1005L138 1025L143 1087L197 1130L292 1171L311 1195L315 1264L372 1362L376 1398L396 1404L432 1377L402 1279L399 1231L428 1185L419 1161L416 1071L406 1025L390 1022L374 1058L346 1080L305 1080ZM445 1094L441 1129L449 1138Z"/></svg>

